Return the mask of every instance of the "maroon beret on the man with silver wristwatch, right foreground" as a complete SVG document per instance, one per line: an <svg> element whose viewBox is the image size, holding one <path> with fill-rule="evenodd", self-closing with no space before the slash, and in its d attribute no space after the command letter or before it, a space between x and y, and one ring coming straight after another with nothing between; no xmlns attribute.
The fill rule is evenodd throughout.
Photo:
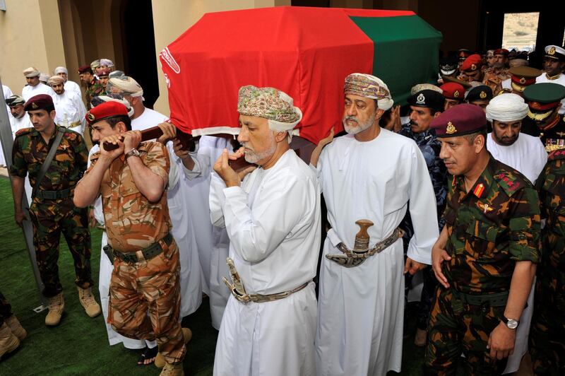
<svg viewBox="0 0 565 376"><path fill-rule="evenodd" d="M487 117L477 105L463 103L442 112L429 126L438 137L457 137L487 129Z"/></svg>

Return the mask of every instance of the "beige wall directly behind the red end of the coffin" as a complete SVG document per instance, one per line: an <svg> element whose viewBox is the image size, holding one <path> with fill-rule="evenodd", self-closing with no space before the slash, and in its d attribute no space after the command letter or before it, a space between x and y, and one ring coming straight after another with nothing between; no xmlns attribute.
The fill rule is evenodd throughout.
<svg viewBox="0 0 565 376"><path fill-rule="evenodd" d="M155 28L155 53L158 59L161 50L191 25L194 25L204 13L284 6L290 5L290 0L152 0L151 3L153 5L153 27ZM169 114L167 84L161 71L158 71L157 75L159 76L159 99L155 102L155 110Z"/></svg>

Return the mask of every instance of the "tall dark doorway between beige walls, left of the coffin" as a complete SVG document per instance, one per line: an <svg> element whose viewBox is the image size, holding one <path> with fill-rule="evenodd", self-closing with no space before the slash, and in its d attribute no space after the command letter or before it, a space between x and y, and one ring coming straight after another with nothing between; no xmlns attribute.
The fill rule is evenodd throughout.
<svg viewBox="0 0 565 376"><path fill-rule="evenodd" d="M153 108L159 98L159 80L151 0L124 0L121 14L124 71L143 88L145 107Z"/></svg>

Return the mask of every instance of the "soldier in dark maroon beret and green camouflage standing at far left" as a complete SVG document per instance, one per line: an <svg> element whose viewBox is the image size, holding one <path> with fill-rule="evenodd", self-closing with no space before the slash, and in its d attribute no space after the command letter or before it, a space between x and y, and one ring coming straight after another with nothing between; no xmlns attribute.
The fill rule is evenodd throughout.
<svg viewBox="0 0 565 376"><path fill-rule="evenodd" d="M33 225L33 245L37 267L44 284L43 294L49 298L49 313L45 324L57 325L64 311L63 287L59 281L59 239L63 233L73 255L78 295L90 317L100 315L100 305L94 300L90 275L90 232L85 209L73 205L76 182L83 175L88 151L82 136L71 129L59 129L54 123L55 110L50 95L35 95L25 103L33 128L20 129L13 142L12 181L16 223L22 225L24 179L36 186L37 175L57 133L63 131L57 152L39 186L32 193L30 218Z"/></svg>

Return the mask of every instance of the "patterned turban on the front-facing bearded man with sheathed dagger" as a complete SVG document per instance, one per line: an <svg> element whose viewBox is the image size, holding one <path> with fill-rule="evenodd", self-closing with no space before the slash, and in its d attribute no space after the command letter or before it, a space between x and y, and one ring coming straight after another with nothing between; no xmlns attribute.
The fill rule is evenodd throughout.
<svg viewBox="0 0 565 376"><path fill-rule="evenodd" d="M370 74L354 73L345 78L345 94L359 95L364 98L376 100L376 107L381 110L389 110L393 107L394 101L388 86L381 78Z"/></svg>

